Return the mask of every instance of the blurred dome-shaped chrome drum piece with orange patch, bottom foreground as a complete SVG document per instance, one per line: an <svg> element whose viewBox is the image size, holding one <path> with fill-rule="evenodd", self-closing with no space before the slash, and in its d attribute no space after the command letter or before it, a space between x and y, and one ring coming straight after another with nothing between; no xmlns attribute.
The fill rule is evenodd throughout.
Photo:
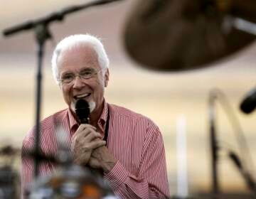
<svg viewBox="0 0 256 199"><path fill-rule="evenodd" d="M100 199L105 194L95 176L80 166L69 166L43 176L31 188L31 199L40 198L92 198Z"/></svg>

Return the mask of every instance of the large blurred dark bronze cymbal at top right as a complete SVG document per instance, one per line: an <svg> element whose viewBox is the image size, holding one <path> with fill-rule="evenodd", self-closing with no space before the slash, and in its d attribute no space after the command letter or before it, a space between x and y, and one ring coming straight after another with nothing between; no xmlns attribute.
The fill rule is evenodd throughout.
<svg viewBox="0 0 256 199"><path fill-rule="evenodd" d="M234 19L256 22L255 0L137 1L124 45L144 68L181 71L206 67L252 43Z"/></svg>

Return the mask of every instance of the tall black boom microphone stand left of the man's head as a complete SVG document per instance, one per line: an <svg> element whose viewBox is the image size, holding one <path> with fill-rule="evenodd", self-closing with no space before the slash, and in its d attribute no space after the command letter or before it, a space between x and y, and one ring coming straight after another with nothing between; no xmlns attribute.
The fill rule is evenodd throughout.
<svg viewBox="0 0 256 199"><path fill-rule="evenodd" d="M112 3L114 1L122 1L122 0L98 0L92 1L87 4L82 4L80 6L70 6L63 11L54 12L53 14L49 14L43 18L38 18L34 21L27 21L25 23L21 23L17 26L13 26L11 28L6 28L3 33L4 36L11 36L15 33L19 33L21 31L34 30L36 34L36 43L38 46L37 56L38 56L38 70L36 73L36 137L35 137L35 177L38 176L38 166L40 163L40 156L38 155L40 152L40 116L41 116L41 80L42 76L42 63L44 56L44 47L45 43L52 36L48 29L48 26L53 21L63 21L65 15L72 14L73 12L80 11L82 9L87 9L91 6L99 6L103 4Z"/></svg>

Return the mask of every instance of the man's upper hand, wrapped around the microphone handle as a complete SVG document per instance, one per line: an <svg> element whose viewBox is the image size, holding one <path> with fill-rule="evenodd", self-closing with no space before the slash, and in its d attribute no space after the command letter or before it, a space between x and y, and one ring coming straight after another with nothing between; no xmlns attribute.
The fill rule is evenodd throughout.
<svg viewBox="0 0 256 199"><path fill-rule="evenodd" d="M81 124L71 138L73 161L78 165L86 165L93 149L104 146L106 141L101 139L100 133L90 124Z"/></svg>

